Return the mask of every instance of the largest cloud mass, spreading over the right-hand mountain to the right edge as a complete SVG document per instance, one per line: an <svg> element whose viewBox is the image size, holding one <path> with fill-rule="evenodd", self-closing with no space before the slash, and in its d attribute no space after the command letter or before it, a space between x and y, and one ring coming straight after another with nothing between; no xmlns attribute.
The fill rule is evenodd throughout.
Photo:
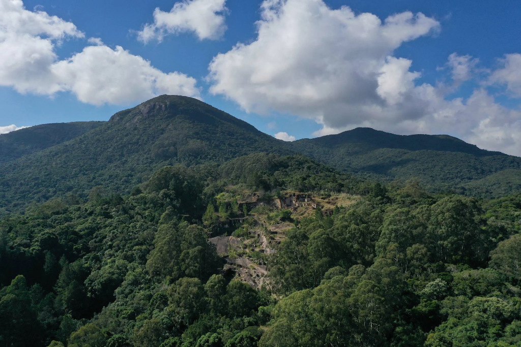
<svg viewBox="0 0 521 347"><path fill-rule="evenodd" d="M404 42L436 33L440 24L403 12L380 20L322 0L265 0L257 37L214 57L210 92L248 112L276 111L322 125L314 136L357 126L399 134L456 134L482 148L521 155L521 113L484 87L468 98L449 93L478 72L478 59L452 54L453 86L419 84L412 61L394 56ZM521 97L521 55L507 55L489 83ZM482 72L482 71L480 71Z"/></svg>

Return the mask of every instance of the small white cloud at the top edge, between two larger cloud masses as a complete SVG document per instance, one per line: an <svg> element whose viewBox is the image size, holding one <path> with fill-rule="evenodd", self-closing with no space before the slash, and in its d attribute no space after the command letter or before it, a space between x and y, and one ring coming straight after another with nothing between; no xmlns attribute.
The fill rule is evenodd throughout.
<svg viewBox="0 0 521 347"><path fill-rule="evenodd" d="M145 24L138 32L138 40L163 41L167 34L194 32L199 40L216 40L226 31L226 0L183 0L173 5L170 12L156 8L154 23Z"/></svg>

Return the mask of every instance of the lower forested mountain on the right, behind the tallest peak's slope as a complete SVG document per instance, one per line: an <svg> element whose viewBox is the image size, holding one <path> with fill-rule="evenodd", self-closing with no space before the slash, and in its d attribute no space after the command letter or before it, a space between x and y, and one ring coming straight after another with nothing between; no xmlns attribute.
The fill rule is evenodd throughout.
<svg viewBox="0 0 521 347"><path fill-rule="evenodd" d="M416 177L431 191L489 197L520 191L521 158L448 135L407 136L356 128L297 140L291 149L343 171L386 180ZM483 179L486 187L477 183Z"/></svg>

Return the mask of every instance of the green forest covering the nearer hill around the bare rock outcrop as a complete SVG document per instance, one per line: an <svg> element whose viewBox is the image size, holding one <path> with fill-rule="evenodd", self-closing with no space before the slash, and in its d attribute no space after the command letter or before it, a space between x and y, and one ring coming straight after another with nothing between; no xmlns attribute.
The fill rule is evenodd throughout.
<svg viewBox="0 0 521 347"><path fill-rule="evenodd" d="M0 219L1 346L521 345L519 195L263 154L166 166L130 190ZM314 205L274 204L296 192ZM242 248L220 255L222 235ZM230 271L241 256L263 286Z"/></svg>

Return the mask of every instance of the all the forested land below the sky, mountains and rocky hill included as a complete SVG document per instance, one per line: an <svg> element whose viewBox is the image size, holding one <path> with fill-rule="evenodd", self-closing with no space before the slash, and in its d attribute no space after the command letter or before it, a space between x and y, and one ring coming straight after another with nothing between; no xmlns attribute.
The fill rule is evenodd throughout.
<svg viewBox="0 0 521 347"><path fill-rule="evenodd" d="M521 347L520 164L177 96L0 135L0 347Z"/></svg>

